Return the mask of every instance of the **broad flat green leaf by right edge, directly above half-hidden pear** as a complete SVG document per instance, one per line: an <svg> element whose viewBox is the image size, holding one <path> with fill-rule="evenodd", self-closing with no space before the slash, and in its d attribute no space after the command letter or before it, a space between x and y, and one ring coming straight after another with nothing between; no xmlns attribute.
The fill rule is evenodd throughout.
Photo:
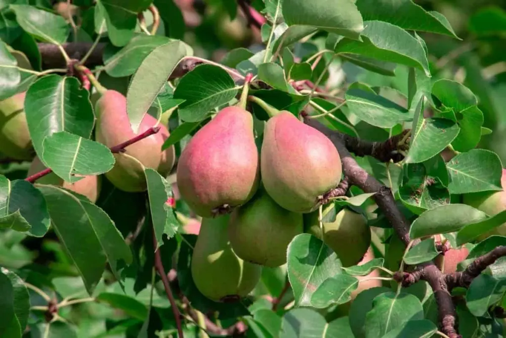
<svg viewBox="0 0 506 338"><path fill-rule="evenodd" d="M494 152L472 149L455 156L446 167L450 176L448 184L450 194L502 190L500 183L502 164Z"/></svg>

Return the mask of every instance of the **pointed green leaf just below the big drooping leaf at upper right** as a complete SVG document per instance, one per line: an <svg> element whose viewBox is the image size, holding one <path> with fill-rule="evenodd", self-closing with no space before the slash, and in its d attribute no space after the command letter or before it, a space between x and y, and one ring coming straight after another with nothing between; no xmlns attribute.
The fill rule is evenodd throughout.
<svg viewBox="0 0 506 338"><path fill-rule="evenodd" d="M389 99L358 88L346 92L346 104L360 120L376 127L392 128L413 117L408 110Z"/></svg>

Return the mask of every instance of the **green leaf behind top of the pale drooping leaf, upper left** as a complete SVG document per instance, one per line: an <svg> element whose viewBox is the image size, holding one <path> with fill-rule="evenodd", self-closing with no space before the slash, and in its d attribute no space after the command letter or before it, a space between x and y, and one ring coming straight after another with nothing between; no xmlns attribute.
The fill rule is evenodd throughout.
<svg viewBox="0 0 506 338"><path fill-rule="evenodd" d="M104 70L115 78L132 75L146 56L168 42L170 39L166 36L138 34L121 49L107 45L103 54Z"/></svg>

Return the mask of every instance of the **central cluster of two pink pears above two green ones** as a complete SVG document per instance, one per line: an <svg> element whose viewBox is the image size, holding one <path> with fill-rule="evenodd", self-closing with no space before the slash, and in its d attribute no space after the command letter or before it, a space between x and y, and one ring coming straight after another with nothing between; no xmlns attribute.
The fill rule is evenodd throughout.
<svg viewBox="0 0 506 338"><path fill-rule="evenodd" d="M260 146L250 112L218 112L190 139L177 167L181 197L202 217L191 263L200 292L217 302L238 299L255 287L262 267L284 265L305 215L313 215L311 228L341 175L332 142L291 112L267 121Z"/></svg>

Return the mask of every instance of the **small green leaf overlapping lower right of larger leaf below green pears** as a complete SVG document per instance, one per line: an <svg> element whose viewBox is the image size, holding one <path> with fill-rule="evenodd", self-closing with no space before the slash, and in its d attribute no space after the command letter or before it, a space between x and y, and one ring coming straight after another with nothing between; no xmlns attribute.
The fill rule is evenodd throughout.
<svg viewBox="0 0 506 338"><path fill-rule="evenodd" d="M327 278L311 296L311 305L325 309L332 304L340 305L351 300L352 291L358 287L358 279L349 275L337 275Z"/></svg>

